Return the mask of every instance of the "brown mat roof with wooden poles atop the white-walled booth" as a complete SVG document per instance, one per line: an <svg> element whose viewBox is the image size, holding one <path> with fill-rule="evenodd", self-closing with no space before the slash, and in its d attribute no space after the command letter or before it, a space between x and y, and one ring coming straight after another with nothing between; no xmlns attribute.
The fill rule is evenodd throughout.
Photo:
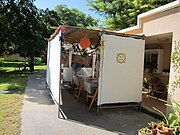
<svg viewBox="0 0 180 135"><path fill-rule="evenodd" d="M61 27L66 28L65 42L68 43L79 43L80 39L84 36L84 34L86 34L86 36L90 39L91 44L97 44L99 42L101 33L115 35L115 36L122 36L122 37L133 37L139 39L144 38L143 35L140 36L140 35L119 33L115 30L109 30L109 29L100 29L100 28L87 29L87 28L80 28L73 26L59 26L59 27L51 27L52 29L55 29L55 32L51 35L48 41L51 41L54 37L56 37Z"/></svg>

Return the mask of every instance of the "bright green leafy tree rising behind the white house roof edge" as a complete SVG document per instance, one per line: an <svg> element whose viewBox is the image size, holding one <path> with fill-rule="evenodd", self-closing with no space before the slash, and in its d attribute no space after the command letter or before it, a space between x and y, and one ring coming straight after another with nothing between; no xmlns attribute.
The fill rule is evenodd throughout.
<svg viewBox="0 0 180 135"><path fill-rule="evenodd" d="M124 29L136 25L137 15L174 0L87 0L88 6L106 17L107 28Z"/></svg>

